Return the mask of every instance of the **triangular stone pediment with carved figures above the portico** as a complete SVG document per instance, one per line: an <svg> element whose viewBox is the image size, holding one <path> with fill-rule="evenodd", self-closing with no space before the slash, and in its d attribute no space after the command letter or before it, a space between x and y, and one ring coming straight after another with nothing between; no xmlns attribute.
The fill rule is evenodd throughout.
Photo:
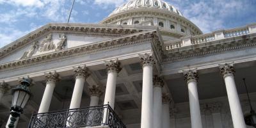
<svg viewBox="0 0 256 128"><path fill-rule="evenodd" d="M106 24L47 24L0 49L0 64L113 40L154 27L132 28Z"/></svg>

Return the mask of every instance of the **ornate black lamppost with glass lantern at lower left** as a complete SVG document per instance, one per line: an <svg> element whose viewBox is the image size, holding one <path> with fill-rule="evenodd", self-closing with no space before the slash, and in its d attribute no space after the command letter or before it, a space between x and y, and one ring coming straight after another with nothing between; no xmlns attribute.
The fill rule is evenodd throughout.
<svg viewBox="0 0 256 128"><path fill-rule="evenodd" d="M23 112L24 106L31 97L31 92L29 90L30 84L31 80L23 77L20 79L20 84L12 89L13 99L10 112L10 123L8 124L8 127L10 128L15 127L17 118Z"/></svg>

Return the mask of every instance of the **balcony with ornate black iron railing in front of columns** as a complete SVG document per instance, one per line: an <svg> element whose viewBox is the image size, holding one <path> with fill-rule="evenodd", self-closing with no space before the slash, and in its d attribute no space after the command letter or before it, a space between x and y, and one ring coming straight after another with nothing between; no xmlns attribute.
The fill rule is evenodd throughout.
<svg viewBox="0 0 256 128"><path fill-rule="evenodd" d="M109 127L126 128L109 105L38 113L29 128Z"/></svg>

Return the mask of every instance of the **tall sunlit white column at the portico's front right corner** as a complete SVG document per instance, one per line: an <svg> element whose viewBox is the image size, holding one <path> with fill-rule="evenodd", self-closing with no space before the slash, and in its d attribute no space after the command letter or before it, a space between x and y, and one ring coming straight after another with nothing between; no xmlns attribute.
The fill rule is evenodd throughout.
<svg viewBox="0 0 256 128"><path fill-rule="evenodd" d="M143 68L141 128L153 128L153 65L152 54L140 55Z"/></svg>

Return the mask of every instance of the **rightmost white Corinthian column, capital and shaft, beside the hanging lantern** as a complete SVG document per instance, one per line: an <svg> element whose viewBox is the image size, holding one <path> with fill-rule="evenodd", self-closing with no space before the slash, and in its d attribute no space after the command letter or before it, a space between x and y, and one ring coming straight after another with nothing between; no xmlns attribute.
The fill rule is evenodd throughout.
<svg viewBox="0 0 256 128"><path fill-rule="evenodd" d="M235 70L233 65L228 65L227 63L225 65L220 65L220 73L223 76L226 84L228 102L234 128L245 128L246 125L244 122L243 111L241 109L241 104L236 90L236 83L234 80Z"/></svg>

